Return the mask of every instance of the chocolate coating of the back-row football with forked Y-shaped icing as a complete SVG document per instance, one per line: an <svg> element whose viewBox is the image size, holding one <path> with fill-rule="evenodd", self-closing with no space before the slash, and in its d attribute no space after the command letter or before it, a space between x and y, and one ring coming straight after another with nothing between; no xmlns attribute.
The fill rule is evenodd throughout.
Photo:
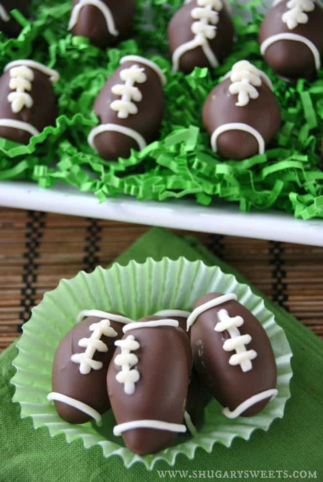
<svg viewBox="0 0 323 482"><path fill-rule="evenodd" d="M194 38L195 35L191 31L191 25L196 20L191 17L191 11L197 6L196 0L193 0L177 10L171 18L168 26L168 41L171 55L179 46ZM222 10L219 12L219 22L216 27L216 36L208 40L208 43L218 61L221 62L230 52L235 34L232 19L224 2ZM181 56L179 62L180 70L184 70L187 73L193 70L194 67L209 66L209 61L202 47L187 51Z"/></svg>

